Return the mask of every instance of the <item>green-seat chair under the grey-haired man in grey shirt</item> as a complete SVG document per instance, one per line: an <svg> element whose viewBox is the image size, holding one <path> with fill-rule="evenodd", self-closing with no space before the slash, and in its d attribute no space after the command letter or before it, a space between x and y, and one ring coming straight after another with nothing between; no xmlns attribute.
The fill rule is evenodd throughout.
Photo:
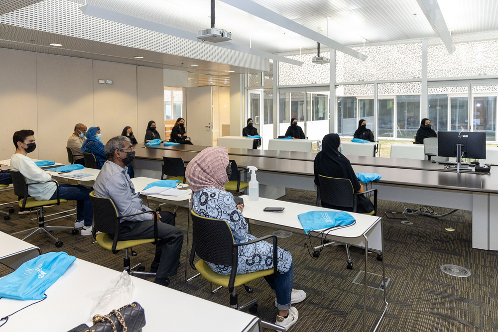
<svg viewBox="0 0 498 332"><path fill-rule="evenodd" d="M131 250L131 256L136 256L136 252L133 251L132 247L145 243L157 243L157 215L152 213L154 218L153 238L120 241L119 233L122 219L151 212L144 211L134 215L120 216L112 199L95 196L95 192L93 191L90 193L90 201L92 202L93 210L92 232L97 243L101 247L111 250L114 254L124 250L123 270L128 274L147 278L155 277L155 273L143 272L145 268L140 266L140 263L130 267L129 251ZM98 231L101 233L97 234ZM137 267L138 271L134 271Z"/></svg>

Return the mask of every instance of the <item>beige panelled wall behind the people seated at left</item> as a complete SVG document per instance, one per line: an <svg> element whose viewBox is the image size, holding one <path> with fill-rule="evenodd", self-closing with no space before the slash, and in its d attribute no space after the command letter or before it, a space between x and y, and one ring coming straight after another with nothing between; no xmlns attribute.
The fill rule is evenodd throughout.
<svg viewBox="0 0 498 332"><path fill-rule="evenodd" d="M0 59L0 160L12 155L20 129L35 131L30 157L67 163L66 142L78 122L100 126L105 143L126 125L141 142L149 120L163 121L160 68L3 48Z"/></svg>

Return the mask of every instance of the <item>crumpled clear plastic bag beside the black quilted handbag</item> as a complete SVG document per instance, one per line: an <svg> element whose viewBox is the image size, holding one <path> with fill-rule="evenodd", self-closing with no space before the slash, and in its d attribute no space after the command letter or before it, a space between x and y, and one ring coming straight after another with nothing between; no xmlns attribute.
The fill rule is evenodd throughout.
<svg viewBox="0 0 498 332"><path fill-rule="evenodd" d="M106 288L98 293L90 294L90 298L94 300L90 318L95 315L107 315L113 309L118 309L124 305L131 303L135 286L131 277L126 271L109 281Z"/></svg>

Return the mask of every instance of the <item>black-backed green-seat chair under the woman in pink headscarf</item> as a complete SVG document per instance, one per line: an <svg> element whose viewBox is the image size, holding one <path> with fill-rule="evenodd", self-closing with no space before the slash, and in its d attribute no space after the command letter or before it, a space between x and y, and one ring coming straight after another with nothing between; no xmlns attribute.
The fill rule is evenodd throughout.
<svg viewBox="0 0 498 332"><path fill-rule="evenodd" d="M273 262L276 262L278 258L277 237L275 235L265 235L249 242L235 243L232 229L226 221L201 217L194 210L191 210L190 214L192 216L190 266L213 284L229 289L231 308L241 311L249 309L251 314L255 314L257 311L257 299L252 299L248 303L239 306L236 288L249 281L278 273L277 266L273 264L272 269L237 274L239 264L238 250L241 246L271 238L273 240ZM200 259L194 264L196 255ZM231 266L232 272L230 275L218 274L206 262ZM263 321L261 321L261 326L276 331L285 331L280 326Z"/></svg>

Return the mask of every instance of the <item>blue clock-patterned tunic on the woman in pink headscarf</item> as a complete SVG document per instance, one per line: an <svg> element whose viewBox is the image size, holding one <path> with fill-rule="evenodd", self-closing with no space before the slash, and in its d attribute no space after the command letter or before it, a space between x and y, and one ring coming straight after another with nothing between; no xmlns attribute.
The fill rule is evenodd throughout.
<svg viewBox="0 0 498 332"><path fill-rule="evenodd" d="M234 234L235 243L244 243L256 239L248 234L248 223L244 219L242 212L237 209L234 195L220 190L216 187L209 187L194 193L193 209L196 214L202 217L222 219L228 222ZM273 268L273 245L261 241L239 247L239 265L237 274L245 274L259 270ZM280 247L278 251L277 267L280 274L286 273L292 264L292 255L289 251ZM219 274L229 275L232 272L231 266L218 265L207 262L213 271Z"/></svg>

